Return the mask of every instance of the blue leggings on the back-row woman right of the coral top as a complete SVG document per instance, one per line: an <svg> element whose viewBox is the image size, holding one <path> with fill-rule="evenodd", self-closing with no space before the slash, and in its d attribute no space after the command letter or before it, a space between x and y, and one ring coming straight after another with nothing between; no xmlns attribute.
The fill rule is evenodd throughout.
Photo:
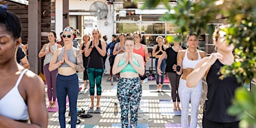
<svg viewBox="0 0 256 128"><path fill-rule="evenodd" d="M156 72L157 72L157 63L158 63L159 58L156 58L155 61L155 68L156 68ZM161 65L160 65L160 70L163 72L161 75L161 84L164 83L164 71L165 71L165 67L166 67L166 62L165 59L163 59ZM156 84L159 84L159 75L156 73Z"/></svg>

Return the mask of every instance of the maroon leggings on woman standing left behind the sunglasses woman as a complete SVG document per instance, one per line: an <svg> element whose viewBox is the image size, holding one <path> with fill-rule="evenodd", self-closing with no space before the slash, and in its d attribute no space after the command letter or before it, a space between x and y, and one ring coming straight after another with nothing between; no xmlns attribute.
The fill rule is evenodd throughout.
<svg viewBox="0 0 256 128"><path fill-rule="evenodd" d="M58 68L55 70L52 70L52 72L49 71L49 63L44 65L44 77L46 79L47 83L47 96L48 99L51 101L56 101L56 75L58 73Z"/></svg>

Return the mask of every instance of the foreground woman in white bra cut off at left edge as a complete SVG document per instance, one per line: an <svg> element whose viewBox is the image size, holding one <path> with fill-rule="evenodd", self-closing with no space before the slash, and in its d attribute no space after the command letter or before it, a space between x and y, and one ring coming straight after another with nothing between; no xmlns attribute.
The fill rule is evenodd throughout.
<svg viewBox="0 0 256 128"><path fill-rule="evenodd" d="M21 24L0 4L0 127L47 127L44 81L16 61Z"/></svg>

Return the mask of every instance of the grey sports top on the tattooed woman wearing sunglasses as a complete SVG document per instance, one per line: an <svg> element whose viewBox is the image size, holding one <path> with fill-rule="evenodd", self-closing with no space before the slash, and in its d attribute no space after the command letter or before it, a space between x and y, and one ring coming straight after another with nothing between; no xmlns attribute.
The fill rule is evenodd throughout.
<svg viewBox="0 0 256 128"><path fill-rule="evenodd" d="M58 57L58 61L61 61L63 58L63 52L64 52L64 47L61 49L60 55ZM68 55L68 60L71 61L72 63L76 64L76 56L74 55L74 47L72 49L66 50L67 55ZM66 62L64 62L60 67L70 67Z"/></svg>

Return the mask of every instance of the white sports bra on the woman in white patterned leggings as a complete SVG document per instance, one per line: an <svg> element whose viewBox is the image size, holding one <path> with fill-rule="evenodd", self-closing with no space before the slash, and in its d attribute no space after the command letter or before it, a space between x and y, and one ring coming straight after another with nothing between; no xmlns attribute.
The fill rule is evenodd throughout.
<svg viewBox="0 0 256 128"><path fill-rule="evenodd" d="M186 49L185 56L184 56L184 59L182 61L183 69L185 69L185 68L195 68L196 64L202 59L201 56L200 56L199 51L197 49L196 49L196 51L198 52L198 59L197 60L189 60L188 55L187 55L188 49Z"/></svg>

